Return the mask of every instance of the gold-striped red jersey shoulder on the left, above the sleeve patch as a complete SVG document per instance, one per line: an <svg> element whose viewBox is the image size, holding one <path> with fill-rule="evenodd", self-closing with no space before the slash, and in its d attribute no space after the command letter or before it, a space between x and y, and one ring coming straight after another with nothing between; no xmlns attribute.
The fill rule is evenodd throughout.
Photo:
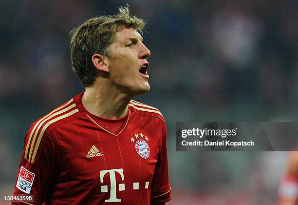
<svg viewBox="0 0 298 205"><path fill-rule="evenodd" d="M79 116L74 99L71 99L39 118L26 134L24 159L30 163L36 162L50 132L60 124L73 121Z"/></svg>

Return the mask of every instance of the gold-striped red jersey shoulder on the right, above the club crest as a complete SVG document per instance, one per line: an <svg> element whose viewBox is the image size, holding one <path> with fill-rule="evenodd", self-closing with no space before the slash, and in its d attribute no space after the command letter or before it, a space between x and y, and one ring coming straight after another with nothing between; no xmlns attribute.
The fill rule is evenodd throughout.
<svg viewBox="0 0 298 205"><path fill-rule="evenodd" d="M159 109L157 109L155 107L149 106L142 102L137 102L137 101L131 100L129 103L129 108L130 108L130 110L134 111L137 115L158 118L163 123L165 123L164 116L159 111Z"/></svg>

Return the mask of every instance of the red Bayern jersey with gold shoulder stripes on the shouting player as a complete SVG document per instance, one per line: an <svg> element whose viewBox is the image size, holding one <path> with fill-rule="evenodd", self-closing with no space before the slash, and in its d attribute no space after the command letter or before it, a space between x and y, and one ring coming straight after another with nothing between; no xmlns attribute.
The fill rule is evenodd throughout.
<svg viewBox="0 0 298 205"><path fill-rule="evenodd" d="M89 113L82 95L32 124L13 194L34 195L29 204L46 205L169 201L167 131L160 111L131 100L126 117L107 120Z"/></svg>

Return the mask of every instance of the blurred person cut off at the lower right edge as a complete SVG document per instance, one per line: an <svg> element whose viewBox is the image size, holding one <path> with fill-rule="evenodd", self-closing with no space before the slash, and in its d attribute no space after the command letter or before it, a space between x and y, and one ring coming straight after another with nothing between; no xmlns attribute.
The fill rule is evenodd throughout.
<svg viewBox="0 0 298 205"><path fill-rule="evenodd" d="M279 185L279 205L298 205L298 153L290 152L284 176Z"/></svg>

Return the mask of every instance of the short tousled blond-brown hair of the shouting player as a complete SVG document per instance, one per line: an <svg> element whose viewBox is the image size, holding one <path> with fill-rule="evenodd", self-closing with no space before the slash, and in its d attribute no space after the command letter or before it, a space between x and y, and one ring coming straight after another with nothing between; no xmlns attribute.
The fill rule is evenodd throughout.
<svg viewBox="0 0 298 205"><path fill-rule="evenodd" d="M117 15L95 17L73 29L70 33L72 68L78 74L82 85L89 87L98 77L91 60L93 54L110 57L109 48L119 29L125 26L143 34L145 24L143 19L130 16L130 10L126 6L120 7Z"/></svg>

